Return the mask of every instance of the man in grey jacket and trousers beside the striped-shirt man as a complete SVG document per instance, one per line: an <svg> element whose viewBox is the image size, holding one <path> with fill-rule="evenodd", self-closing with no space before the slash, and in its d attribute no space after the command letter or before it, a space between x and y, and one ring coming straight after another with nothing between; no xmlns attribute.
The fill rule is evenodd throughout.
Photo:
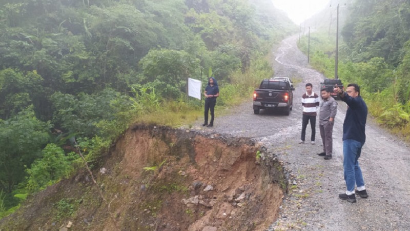
<svg viewBox="0 0 410 231"><path fill-rule="evenodd" d="M320 102L319 129L323 142L323 152L318 153L325 160L332 159L333 152L333 124L337 112L337 102L330 95L330 89L324 87L320 90L323 101Z"/></svg>

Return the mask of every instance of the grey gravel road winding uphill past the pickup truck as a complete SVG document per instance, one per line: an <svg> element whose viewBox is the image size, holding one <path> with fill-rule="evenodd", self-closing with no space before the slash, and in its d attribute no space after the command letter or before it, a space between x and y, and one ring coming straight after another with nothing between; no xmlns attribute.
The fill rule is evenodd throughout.
<svg viewBox="0 0 410 231"><path fill-rule="evenodd" d="M338 101L332 160L316 155L322 151L318 122L316 144L298 144L304 85L312 83L313 90L319 93L324 76L311 69L296 41L297 36L283 40L273 51L272 60L275 76L288 76L295 82L293 110L289 116L264 110L256 115L252 102L247 101L229 109L227 115L216 117L213 128L201 127L202 120L194 127L203 132L255 139L285 163L289 172L289 192L283 199L279 219L272 221L269 230L410 230L408 145L378 127L369 117L367 139L359 159L369 197L357 197L357 203L349 203L338 198L338 194L346 190L342 151L345 103ZM306 140L310 134L308 125Z"/></svg>

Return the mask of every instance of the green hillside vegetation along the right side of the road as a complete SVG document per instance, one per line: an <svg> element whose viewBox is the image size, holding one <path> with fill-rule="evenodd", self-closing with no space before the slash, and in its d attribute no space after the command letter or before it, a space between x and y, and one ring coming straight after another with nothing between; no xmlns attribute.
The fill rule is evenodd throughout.
<svg viewBox="0 0 410 231"><path fill-rule="evenodd" d="M348 2L348 1L347 1ZM339 31L338 76L357 83L372 115L410 140L410 3L355 1L346 4ZM336 30L311 33L311 65L334 78ZM308 51L308 37L299 46Z"/></svg>

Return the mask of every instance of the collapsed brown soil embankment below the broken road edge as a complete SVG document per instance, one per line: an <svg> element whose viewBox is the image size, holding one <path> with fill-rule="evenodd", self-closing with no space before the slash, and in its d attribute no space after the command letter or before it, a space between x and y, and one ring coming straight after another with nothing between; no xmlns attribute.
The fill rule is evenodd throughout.
<svg viewBox="0 0 410 231"><path fill-rule="evenodd" d="M79 172L30 198L0 230L264 230L286 181L258 149L250 139L138 125L92 162L98 187Z"/></svg>

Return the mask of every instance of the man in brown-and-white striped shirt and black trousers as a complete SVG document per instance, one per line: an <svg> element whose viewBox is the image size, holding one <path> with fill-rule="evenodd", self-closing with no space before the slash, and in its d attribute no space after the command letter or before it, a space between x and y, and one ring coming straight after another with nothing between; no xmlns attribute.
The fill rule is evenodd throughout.
<svg viewBox="0 0 410 231"><path fill-rule="evenodd" d="M306 135L306 127L309 122L311 123L312 135L311 143L315 144L315 134L316 134L316 108L319 106L319 95L312 91L312 84L306 84L306 93L302 95L302 136L300 137L300 144L304 143L304 138Z"/></svg>

